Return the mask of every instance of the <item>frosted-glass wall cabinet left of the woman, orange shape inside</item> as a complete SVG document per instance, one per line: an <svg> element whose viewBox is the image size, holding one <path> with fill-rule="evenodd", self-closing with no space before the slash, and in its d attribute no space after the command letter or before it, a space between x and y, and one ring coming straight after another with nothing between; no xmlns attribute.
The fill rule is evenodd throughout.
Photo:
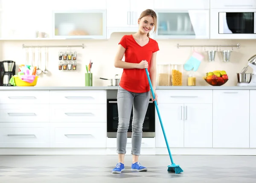
<svg viewBox="0 0 256 183"><path fill-rule="evenodd" d="M53 38L104 39L106 10L54 11Z"/></svg>

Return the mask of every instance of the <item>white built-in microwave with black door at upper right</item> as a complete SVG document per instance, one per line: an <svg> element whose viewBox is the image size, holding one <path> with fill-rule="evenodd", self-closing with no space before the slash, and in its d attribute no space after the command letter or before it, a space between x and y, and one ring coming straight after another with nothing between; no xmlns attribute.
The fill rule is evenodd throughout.
<svg viewBox="0 0 256 183"><path fill-rule="evenodd" d="M256 9L212 9L211 39L255 39Z"/></svg>

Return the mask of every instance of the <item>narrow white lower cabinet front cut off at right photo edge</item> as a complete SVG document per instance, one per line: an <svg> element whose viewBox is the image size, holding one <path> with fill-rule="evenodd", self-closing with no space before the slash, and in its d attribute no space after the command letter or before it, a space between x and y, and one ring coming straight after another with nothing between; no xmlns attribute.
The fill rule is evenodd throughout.
<svg viewBox="0 0 256 183"><path fill-rule="evenodd" d="M250 90L250 148L256 148L256 90Z"/></svg>

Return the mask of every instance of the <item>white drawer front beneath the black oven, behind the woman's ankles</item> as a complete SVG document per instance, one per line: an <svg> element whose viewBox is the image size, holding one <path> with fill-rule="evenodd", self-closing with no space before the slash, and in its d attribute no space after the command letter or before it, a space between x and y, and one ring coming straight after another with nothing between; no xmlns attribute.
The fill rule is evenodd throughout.
<svg viewBox="0 0 256 183"><path fill-rule="evenodd" d="M141 148L155 148L155 138L142 138ZM131 148L131 138L127 139L127 148ZM116 148L116 138L107 138L107 148Z"/></svg>

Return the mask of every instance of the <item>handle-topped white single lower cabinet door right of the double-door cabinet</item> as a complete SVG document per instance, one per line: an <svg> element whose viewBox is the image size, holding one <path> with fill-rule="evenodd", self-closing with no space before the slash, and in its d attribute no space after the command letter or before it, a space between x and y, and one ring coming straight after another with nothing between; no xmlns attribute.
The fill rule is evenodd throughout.
<svg viewBox="0 0 256 183"><path fill-rule="evenodd" d="M249 90L213 90L213 148L249 148L249 118Z"/></svg>

